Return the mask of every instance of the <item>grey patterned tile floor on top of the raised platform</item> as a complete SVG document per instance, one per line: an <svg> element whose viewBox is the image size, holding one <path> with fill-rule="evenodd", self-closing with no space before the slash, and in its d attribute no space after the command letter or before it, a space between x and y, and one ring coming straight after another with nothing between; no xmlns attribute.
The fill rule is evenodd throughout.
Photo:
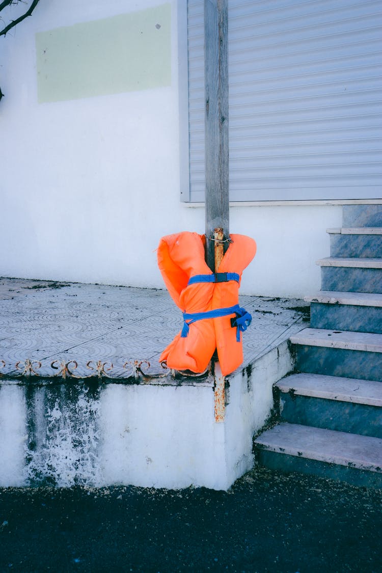
<svg viewBox="0 0 382 573"><path fill-rule="evenodd" d="M305 326L304 301L241 296L240 304L253 316L242 368ZM78 374L89 360L113 362L120 376L127 360L148 360L160 373L159 356L182 327L166 290L18 278L0 278L0 316L3 374L27 358L42 362L44 375L56 374L55 359L76 360Z"/></svg>

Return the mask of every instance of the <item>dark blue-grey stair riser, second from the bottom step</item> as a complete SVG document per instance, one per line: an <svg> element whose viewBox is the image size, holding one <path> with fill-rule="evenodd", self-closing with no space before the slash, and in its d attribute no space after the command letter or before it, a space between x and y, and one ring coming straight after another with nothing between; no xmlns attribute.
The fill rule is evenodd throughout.
<svg viewBox="0 0 382 573"><path fill-rule="evenodd" d="M382 438L382 408L310 396L280 394L282 422Z"/></svg>

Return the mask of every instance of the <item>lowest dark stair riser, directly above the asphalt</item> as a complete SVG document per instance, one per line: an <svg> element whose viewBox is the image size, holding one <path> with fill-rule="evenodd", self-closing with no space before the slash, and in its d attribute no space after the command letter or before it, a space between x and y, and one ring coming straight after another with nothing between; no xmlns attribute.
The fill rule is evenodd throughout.
<svg viewBox="0 0 382 573"><path fill-rule="evenodd" d="M368 472L357 468L328 464L318 460L310 460L282 453L270 452L255 448L257 465L281 472L301 472L316 476L345 481L348 484L366 486L368 488L382 488L382 473Z"/></svg>

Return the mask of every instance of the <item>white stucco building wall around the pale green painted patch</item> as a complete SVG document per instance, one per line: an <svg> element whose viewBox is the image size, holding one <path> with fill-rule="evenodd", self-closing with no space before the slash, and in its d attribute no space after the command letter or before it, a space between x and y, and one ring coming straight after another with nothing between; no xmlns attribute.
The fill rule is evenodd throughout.
<svg viewBox="0 0 382 573"><path fill-rule="evenodd" d="M203 207L179 201L177 2L171 85L38 103L35 34L156 6L163 0L52 0L0 38L0 275L163 287L164 234L204 232ZM302 297L320 288L330 205L233 206L231 231L258 254L242 292Z"/></svg>

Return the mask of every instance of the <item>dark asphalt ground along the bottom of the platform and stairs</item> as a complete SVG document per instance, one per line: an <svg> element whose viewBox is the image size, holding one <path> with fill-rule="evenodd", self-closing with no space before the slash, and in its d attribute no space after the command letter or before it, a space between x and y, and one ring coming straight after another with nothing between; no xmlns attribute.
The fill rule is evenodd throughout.
<svg viewBox="0 0 382 573"><path fill-rule="evenodd" d="M228 492L0 489L0 571L380 573L382 491L253 470Z"/></svg>

